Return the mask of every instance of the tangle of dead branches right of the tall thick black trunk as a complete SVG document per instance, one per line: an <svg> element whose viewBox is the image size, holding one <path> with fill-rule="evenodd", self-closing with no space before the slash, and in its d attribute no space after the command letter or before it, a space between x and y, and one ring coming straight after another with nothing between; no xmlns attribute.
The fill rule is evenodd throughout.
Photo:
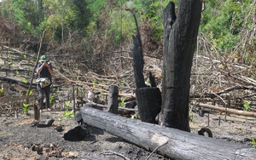
<svg viewBox="0 0 256 160"><path fill-rule="evenodd" d="M241 110L246 102L250 102L249 110L255 110L255 66L229 61L195 55L191 72L191 100Z"/></svg>

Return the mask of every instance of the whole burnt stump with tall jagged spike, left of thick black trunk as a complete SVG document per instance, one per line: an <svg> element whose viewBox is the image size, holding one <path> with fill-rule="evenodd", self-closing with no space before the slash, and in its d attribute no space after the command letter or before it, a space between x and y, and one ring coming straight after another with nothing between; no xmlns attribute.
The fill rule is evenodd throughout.
<svg viewBox="0 0 256 160"><path fill-rule="evenodd" d="M136 16L133 14L137 26ZM160 89L155 88L156 84L152 73L149 73L150 83L154 88L147 88L143 77L143 45L140 32L137 26L137 35L133 36L133 70L136 82L136 97L139 116L143 122L157 123L155 117L160 112L161 94Z"/></svg>

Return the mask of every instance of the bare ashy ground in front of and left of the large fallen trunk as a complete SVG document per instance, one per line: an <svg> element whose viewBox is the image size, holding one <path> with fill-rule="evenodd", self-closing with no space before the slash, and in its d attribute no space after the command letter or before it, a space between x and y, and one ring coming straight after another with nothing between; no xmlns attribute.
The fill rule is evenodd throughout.
<svg viewBox="0 0 256 160"><path fill-rule="evenodd" d="M46 128L32 127L32 114L19 115L17 119L0 117L0 159L146 159L150 154L150 151L90 126L87 126L89 134L84 140L64 140L63 134L77 122L72 117L60 121L61 114L62 111L43 112L41 119L55 119L53 125ZM55 129L60 125L64 129L62 132ZM32 151L35 146L44 147L42 154ZM154 154L150 159L168 158Z"/></svg>

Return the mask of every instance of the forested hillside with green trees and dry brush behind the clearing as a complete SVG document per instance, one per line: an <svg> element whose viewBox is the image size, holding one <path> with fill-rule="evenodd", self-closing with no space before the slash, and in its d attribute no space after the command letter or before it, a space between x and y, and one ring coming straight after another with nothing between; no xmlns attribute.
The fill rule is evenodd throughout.
<svg viewBox="0 0 256 160"><path fill-rule="evenodd" d="M46 31L42 54L47 54L59 66L57 71L71 79L80 80L80 73L91 72L102 76L125 76L126 72L131 75L132 35L136 32L132 14L135 14L143 37L145 69L156 70L156 66L160 69L162 14L168 2L3 0L1 47L3 51L18 49L35 58L42 32ZM228 63L255 68L255 3L255 0L205 1L196 55L218 60L221 69L229 70ZM156 72L160 82L160 72ZM247 76L254 78L255 73L250 71ZM133 83L122 81L119 86L134 87Z"/></svg>

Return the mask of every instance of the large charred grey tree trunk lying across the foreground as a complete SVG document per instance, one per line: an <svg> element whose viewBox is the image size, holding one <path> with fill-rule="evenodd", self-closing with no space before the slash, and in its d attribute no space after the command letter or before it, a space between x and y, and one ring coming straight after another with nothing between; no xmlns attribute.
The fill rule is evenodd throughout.
<svg viewBox="0 0 256 160"><path fill-rule="evenodd" d="M88 106L80 108L84 123L106 130L149 151L174 159L252 159L256 149L178 129L143 123Z"/></svg>

